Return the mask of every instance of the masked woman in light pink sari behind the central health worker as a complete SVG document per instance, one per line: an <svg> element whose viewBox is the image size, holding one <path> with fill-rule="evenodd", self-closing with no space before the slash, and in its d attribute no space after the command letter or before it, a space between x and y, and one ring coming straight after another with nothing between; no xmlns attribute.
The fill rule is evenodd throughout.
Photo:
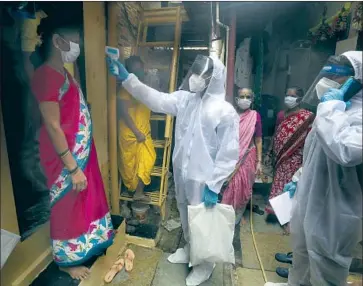
<svg viewBox="0 0 363 286"><path fill-rule="evenodd" d="M235 101L240 115L239 161L223 192L222 203L233 206L238 224L241 219L245 223L243 213L251 199L256 174L261 175L262 124L260 114L250 109L253 101L251 89L240 89Z"/></svg>

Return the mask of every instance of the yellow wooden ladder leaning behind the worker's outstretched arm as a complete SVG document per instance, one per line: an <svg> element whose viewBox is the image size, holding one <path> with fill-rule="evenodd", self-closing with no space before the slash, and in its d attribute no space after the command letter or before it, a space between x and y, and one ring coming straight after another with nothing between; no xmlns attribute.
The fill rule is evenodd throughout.
<svg viewBox="0 0 363 286"><path fill-rule="evenodd" d="M168 89L163 92L174 92L176 90L178 62L180 50L180 35L182 22L188 21L188 16L183 7L168 7L152 10L144 10L142 21L138 27L138 37L134 55L139 55L145 63L147 70L157 71L163 74L163 78L169 76ZM167 31L167 33L163 33ZM172 31L172 32L171 32ZM159 32L159 33L158 33ZM172 34L172 36L170 35ZM153 37L155 35L155 37ZM167 39L161 39L166 37ZM171 54L169 58L163 57L158 61L153 58L153 53L162 53L162 48L166 48L165 53ZM156 87L156 89L158 89ZM160 208L162 220L166 216L166 197L168 192L169 166L171 157L171 146L173 137L174 118L170 115L156 114L151 115L151 133L153 136L154 147L157 152L156 164L152 171L151 184L157 181L158 189L145 192L150 197L151 205ZM163 134L159 131L164 130ZM162 155L161 155L162 154ZM160 157L162 157L160 160ZM158 160L159 159L159 160ZM161 161L161 164L158 161ZM119 184L121 190L121 181ZM120 199L132 201L132 197L122 192Z"/></svg>

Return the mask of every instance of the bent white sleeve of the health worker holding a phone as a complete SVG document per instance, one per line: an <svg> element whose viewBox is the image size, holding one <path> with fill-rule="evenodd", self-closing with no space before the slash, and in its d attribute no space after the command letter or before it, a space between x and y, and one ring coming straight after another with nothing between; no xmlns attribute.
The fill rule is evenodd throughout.
<svg viewBox="0 0 363 286"><path fill-rule="evenodd" d="M337 164L353 167L362 163L362 109L345 111L345 103L320 103L314 127L326 155Z"/></svg>

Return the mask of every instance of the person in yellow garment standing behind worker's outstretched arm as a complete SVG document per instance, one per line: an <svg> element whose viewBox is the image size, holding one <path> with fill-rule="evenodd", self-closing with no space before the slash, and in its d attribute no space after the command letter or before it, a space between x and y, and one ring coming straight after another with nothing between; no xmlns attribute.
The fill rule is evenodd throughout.
<svg viewBox="0 0 363 286"><path fill-rule="evenodd" d="M125 66L140 81L144 80L144 64L140 57L131 56L125 61ZM118 144L122 182L135 201L147 201L144 186L151 182L151 171L156 159L151 138L151 112L122 87L118 93L118 111L121 115Z"/></svg>

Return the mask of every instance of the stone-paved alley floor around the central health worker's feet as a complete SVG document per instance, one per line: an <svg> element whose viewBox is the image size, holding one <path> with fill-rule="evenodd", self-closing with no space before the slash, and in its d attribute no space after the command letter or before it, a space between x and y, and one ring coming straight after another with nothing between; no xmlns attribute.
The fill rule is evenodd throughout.
<svg viewBox="0 0 363 286"><path fill-rule="evenodd" d="M178 216L175 201L171 197L168 199L168 217L176 218ZM253 204L259 205L264 209L264 199L260 194L253 197ZM241 226L239 232L242 250L242 263L236 268L227 267L226 265L217 265L211 279L201 286L263 286L264 278L261 272L259 260L256 255L250 227L249 210L246 211L245 218L247 223ZM286 279L280 278L275 269L278 266L288 267L286 264L280 264L275 260L275 253L289 252L290 237L283 235L283 230L279 225L267 224L265 215L253 213L253 229L257 247L260 253L261 261L266 271L266 276L270 282L287 282ZM237 239L238 240L238 239ZM174 252L178 247L184 245L181 236L181 229L171 232L161 227L161 239L157 248L144 248L136 245L128 245L135 252L134 270L131 273L121 271L111 284L111 286L184 286L185 278L189 273L187 265L170 264L167 261L169 253ZM237 250L237 247L236 247ZM361 250L361 248L360 248ZM361 252L360 252L361 254ZM237 254L236 254L237 255ZM227 269L227 270L226 270ZM231 269L231 270L228 270ZM232 277L232 278L231 278ZM350 276L350 281L357 281L361 276ZM54 284L34 284L41 286L68 286L77 285L63 283L58 281ZM88 284L87 284L88 285ZM97 285L98 286L98 285ZM101 286L101 285L100 285Z"/></svg>

